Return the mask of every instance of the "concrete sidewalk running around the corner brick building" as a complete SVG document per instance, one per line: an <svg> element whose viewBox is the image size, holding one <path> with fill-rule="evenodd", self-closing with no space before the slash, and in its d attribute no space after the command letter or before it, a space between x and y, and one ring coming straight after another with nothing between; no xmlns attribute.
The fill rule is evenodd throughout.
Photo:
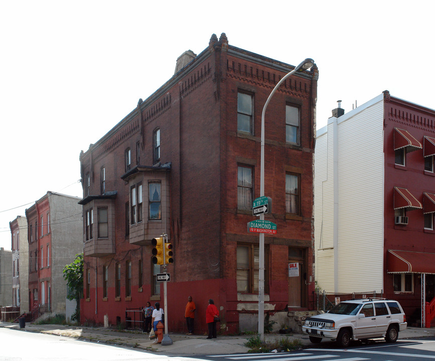
<svg viewBox="0 0 435 361"><path fill-rule="evenodd" d="M112 345L136 347L140 349L165 352L165 354L195 355L195 354L221 354L221 353L246 353L249 348L244 344L253 335L218 336L216 339L207 339L205 335L187 336L180 333L170 333L172 345L163 346L153 344L147 333L139 331L119 331L104 327L81 327L64 325L34 325L27 323L25 328L20 328L18 323L0 322L0 327L10 328L22 332L39 332L100 342ZM435 336L435 328L408 327L399 333L399 339ZM266 341L273 341L285 337L289 340L299 339L304 346L312 345L308 335L301 333L291 334L265 334Z"/></svg>

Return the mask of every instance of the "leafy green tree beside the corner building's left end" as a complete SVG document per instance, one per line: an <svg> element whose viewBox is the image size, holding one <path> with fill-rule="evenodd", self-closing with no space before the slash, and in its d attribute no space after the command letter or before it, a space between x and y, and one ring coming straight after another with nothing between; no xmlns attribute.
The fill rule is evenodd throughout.
<svg viewBox="0 0 435 361"><path fill-rule="evenodd" d="M80 298L83 294L83 252L76 254L76 258L71 264L63 269L63 278L68 286L67 298L77 301L76 312L71 316L71 321L80 320Z"/></svg>

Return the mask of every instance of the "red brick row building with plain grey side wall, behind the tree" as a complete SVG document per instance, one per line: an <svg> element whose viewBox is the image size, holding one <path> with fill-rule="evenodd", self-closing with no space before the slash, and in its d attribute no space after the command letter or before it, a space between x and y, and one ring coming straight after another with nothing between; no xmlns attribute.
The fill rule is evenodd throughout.
<svg viewBox="0 0 435 361"><path fill-rule="evenodd" d="M77 197L47 192L26 209L29 294L21 298L29 297L33 318L66 312L63 268L83 249L78 201Z"/></svg>

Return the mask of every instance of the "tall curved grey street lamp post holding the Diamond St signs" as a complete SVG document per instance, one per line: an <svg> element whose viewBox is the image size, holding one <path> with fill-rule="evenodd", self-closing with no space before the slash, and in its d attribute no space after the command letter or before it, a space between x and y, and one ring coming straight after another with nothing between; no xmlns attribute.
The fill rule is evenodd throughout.
<svg viewBox="0 0 435 361"><path fill-rule="evenodd" d="M299 69L308 70L314 65L313 59L305 59L294 70L286 74L273 88L269 97L264 104L263 111L261 113L261 163L260 163L260 197L264 196L264 114L266 112L267 105L269 104L272 95L279 88L285 79L291 76ZM260 220L264 220L264 214L260 215ZM258 269L258 334L261 339L264 339L264 233L260 233L259 241L259 269Z"/></svg>

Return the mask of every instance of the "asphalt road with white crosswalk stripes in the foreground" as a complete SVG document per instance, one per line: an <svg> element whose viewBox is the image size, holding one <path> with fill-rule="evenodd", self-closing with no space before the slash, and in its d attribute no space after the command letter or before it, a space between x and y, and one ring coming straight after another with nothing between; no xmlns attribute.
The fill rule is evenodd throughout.
<svg viewBox="0 0 435 361"><path fill-rule="evenodd" d="M33 332L17 332L0 328L0 361L413 361L435 359L435 337L399 340L354 342L347 349L335 342L322 342L294 352L235 353L210 355L172 355L134 348L119 347L70 337Z"/></svg>

